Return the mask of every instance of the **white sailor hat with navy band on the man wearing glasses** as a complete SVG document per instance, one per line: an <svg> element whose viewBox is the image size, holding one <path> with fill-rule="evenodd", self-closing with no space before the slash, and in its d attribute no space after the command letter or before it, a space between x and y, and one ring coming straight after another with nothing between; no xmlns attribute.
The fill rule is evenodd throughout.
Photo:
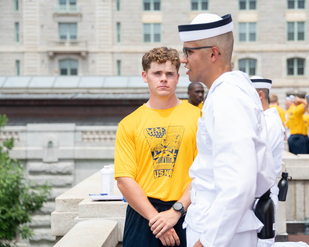
<svg viewBox="0 0 309 247"><path fill-rule="evenodd" d="M222 17L214 14L199 14L189 25L178 26L180 40L193 41L218 36L233 31L231 14Z"/></svg>

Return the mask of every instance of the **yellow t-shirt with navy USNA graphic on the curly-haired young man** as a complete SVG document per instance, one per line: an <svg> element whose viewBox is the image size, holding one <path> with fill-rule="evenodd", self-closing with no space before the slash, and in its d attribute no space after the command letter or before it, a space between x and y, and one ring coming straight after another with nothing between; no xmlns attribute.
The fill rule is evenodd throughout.
<svg viewBox="0 0 309 247"><path fill-rule="evenodd" d="M146 196L178 200L191 181L200 110L187 102L165 110L145 105L118 125L115 178L133 178Z"/></svg>

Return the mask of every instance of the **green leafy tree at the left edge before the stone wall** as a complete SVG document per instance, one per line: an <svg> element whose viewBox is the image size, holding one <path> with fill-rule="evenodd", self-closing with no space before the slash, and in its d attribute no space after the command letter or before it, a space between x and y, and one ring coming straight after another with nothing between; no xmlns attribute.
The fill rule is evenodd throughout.
<svg viewBox="0 0 309 247"><path fill-rule="evenodd" d="M0 115L0 130L6 122L6 115ZM0 247L11 246L17 234L22 238L33 235L27 223L47 201L51 190L47 183L36 186L25 179L23 165L9 157L13 146L13 138L0 143Z"/></svg>

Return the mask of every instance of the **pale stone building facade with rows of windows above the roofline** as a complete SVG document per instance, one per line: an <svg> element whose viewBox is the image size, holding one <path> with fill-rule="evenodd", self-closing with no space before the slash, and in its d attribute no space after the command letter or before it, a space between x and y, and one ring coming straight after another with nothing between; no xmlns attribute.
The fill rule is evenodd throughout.
<svg viewBox="0 0 309 247"><path fill-rule="evenodd" d="M2 0L0 7L0 75L139 75L142 55L155 46L182 55L178 25L203 12L231 13L233 69L270 78L284 93L308 91L305 0Z"/></svg>

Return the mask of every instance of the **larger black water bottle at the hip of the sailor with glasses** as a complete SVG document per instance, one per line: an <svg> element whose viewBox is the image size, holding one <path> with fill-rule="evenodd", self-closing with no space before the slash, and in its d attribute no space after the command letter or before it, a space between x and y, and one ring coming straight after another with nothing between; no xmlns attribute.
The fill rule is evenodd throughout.
<svg viewBox="0 0 309 247"><path fill-rule="evenodd" d="M270 198L270 189L260 197L254 213L264 224L257 237L260 239L274 238L276 234L275 205Z"/></svg>

